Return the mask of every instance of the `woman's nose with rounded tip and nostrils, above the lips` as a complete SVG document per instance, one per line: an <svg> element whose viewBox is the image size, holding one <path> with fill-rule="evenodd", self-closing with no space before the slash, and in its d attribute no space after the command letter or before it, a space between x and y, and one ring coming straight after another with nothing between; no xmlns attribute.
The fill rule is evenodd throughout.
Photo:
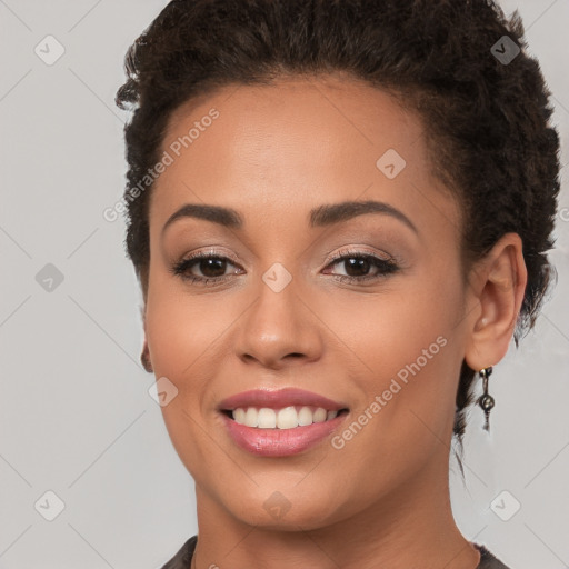
<svg viewBox="0 0 569 569"><path fill-rule="evenodd" d="M280 369L320 358L323 325L299 292L295 279L279 292L261 281L259 297L240 319L237 351L244 363Z"/></svg>

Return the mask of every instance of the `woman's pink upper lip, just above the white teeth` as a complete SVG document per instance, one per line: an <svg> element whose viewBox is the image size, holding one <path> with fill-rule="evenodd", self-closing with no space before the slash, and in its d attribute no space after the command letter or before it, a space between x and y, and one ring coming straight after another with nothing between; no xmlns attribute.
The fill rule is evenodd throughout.
<svg viewBox="0 0 569 569"><path fill-rule="evenodd" d="M218 409L220 411L233 410L239 407L267 407L272 409L281 409L290 406L311 406L322 407L327 411L339 411L340 409L347 409L348 406L332 401L331 399L313 393L311 391L305 391L303 389L284 388L284 389L253 389L250 391L243 391L234 396L223 399Z"/></svg>

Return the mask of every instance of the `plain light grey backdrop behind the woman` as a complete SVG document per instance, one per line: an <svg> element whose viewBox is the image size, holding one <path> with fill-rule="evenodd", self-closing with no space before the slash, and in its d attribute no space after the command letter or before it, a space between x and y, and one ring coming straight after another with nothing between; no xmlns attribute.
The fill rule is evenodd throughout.
<svg viewBox="0 0 569 569"><path fill-rule="evenodd" d="M128 116L113 104L123 54L166 3L0 0L4 569L151 569L197 532L193 481L149 396L153 376L139 363L141 296L123 252L123 221L102 217L124 182ZM569 1L502 6L519 8L553 91L566 166ZM52 66L34 52L48 34L66 50ZM569 567L567 173L551 253L556 293L536 331L495 369L490 436L482 412L470 413L466 486L450 462L459 528L512 569ZM54 278L51 291L38 273ZM49 490L64 502L52 521L40 513L54 511ZM521 508L503 521L497 512L510 516L513 500Z"/></svg>

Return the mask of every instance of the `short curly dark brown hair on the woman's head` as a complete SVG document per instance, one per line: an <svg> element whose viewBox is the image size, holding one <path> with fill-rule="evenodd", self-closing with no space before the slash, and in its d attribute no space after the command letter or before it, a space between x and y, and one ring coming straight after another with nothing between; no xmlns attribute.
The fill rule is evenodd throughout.
<svg viewBox="0 0 569 569"><path fill-rule="evenodd" d="M144 298L151 188L137 199L131 192L159 160L171 113L230 83L341 71L421 117L433 172L461 203L467 269L505 233L521 237L528 284L518 346L553 280L546 252L559 192L551 93L523 33L518 12L508 20L490 0L171 1L130 47L117 93L120 108L133 109L124 129L126 248ZM499 57L506 48L511 61ZM473 378L463 361L453 428L460 448Z"/></svg>

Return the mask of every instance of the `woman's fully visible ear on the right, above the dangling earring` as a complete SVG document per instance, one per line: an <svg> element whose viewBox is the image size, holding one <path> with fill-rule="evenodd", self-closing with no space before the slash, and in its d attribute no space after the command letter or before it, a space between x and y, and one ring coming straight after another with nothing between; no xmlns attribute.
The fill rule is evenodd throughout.
<svg viewBox="0 0 569 569"><path fill-rule="evenodd" d="M505 234L469 274L470 308L465 359L473 370L498 363L508 351L528 271L518 233Z"/></svg>

